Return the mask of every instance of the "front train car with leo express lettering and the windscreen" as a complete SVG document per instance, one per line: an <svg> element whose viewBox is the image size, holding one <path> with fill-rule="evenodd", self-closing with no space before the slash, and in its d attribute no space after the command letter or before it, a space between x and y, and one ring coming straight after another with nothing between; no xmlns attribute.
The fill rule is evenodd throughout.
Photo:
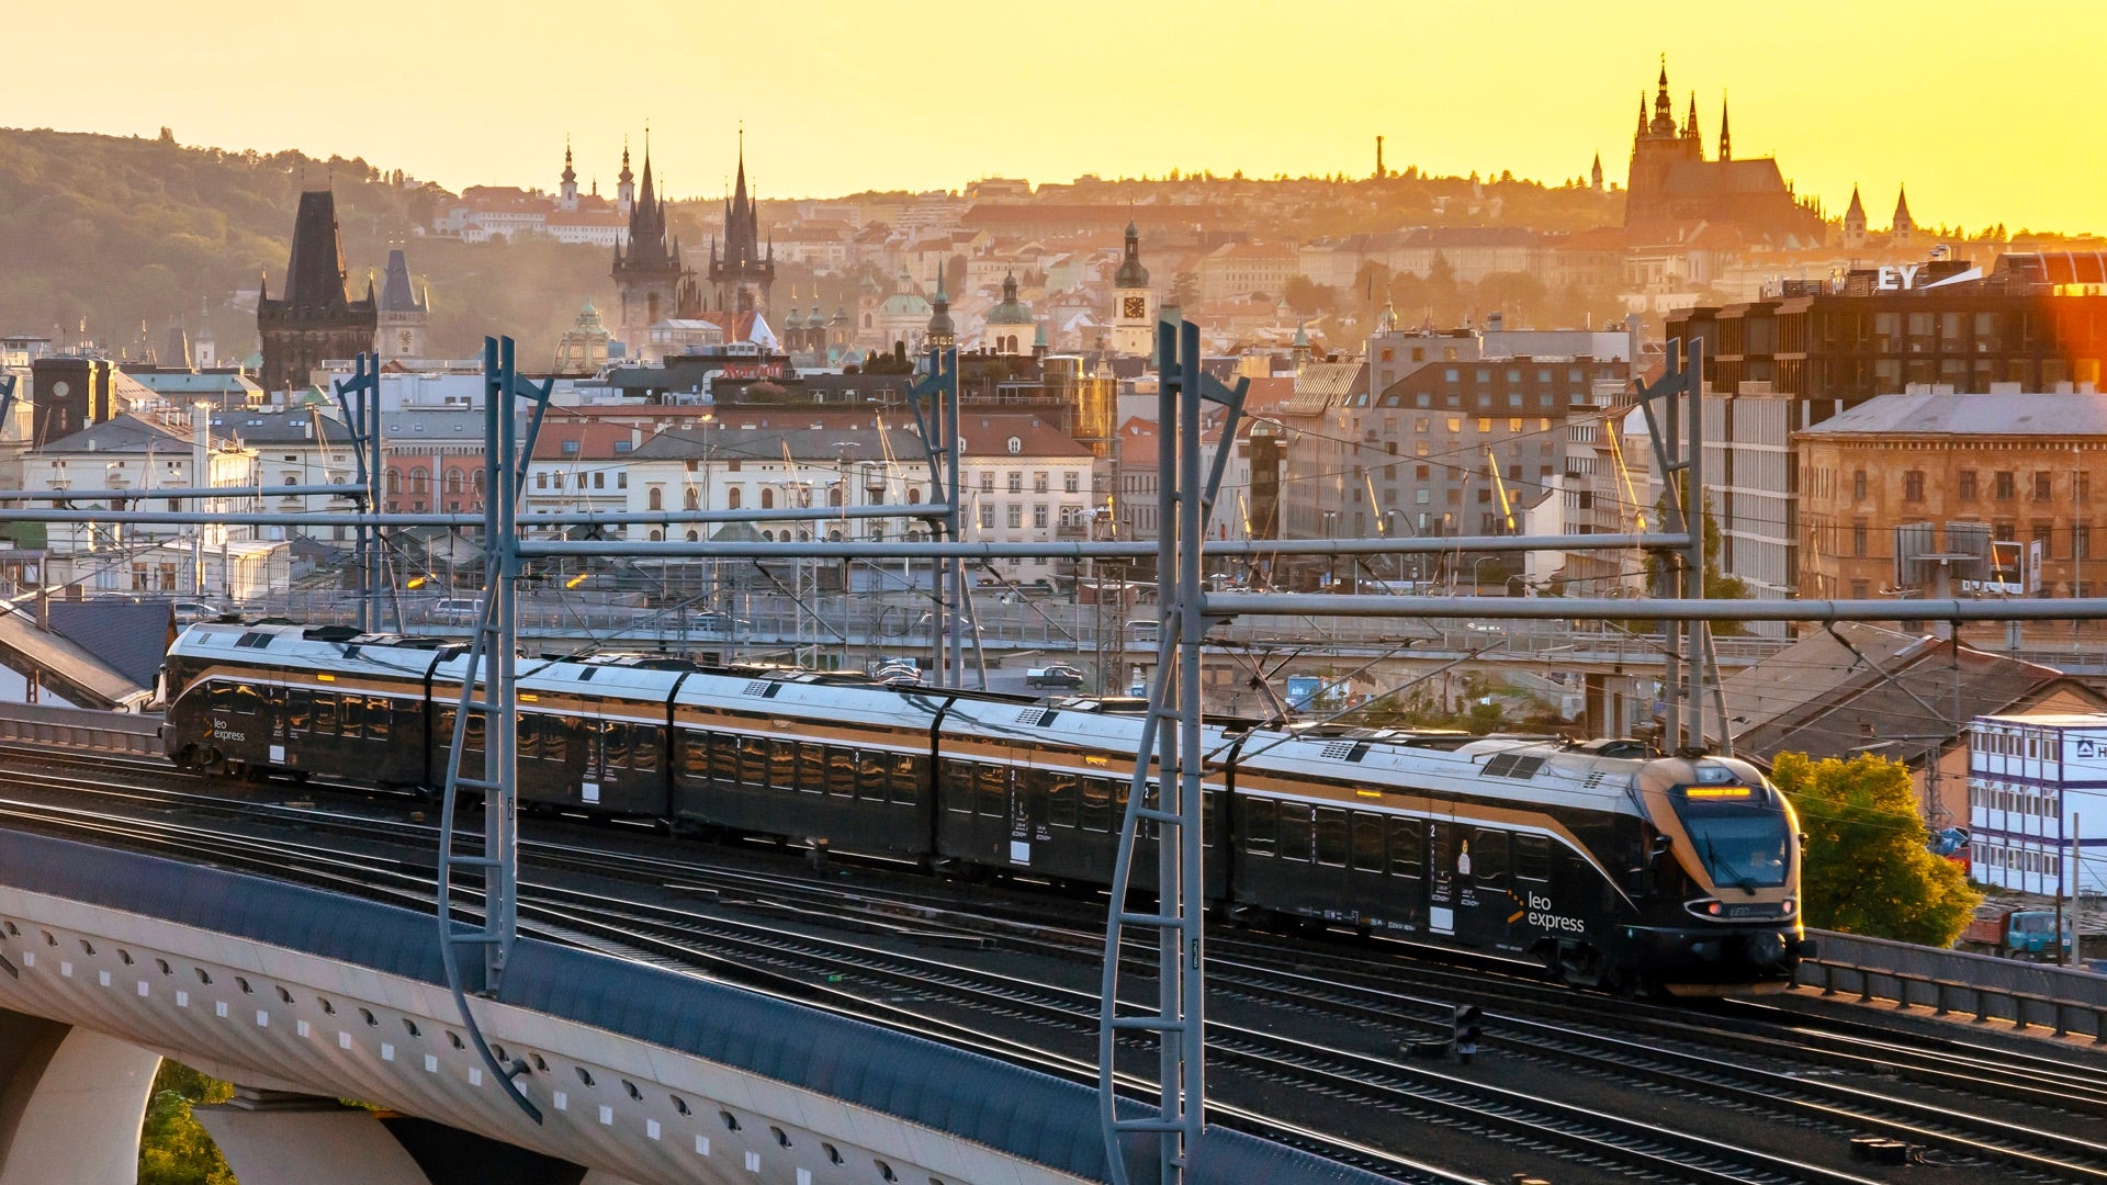
<svg viewBox="0 0 2107 1185"><path fill-rule="evenodd" d="M1235 799L1241 911L1679 995L1783 987L1799 957L1797 827L1745 761L1258 732Z"/></svg>

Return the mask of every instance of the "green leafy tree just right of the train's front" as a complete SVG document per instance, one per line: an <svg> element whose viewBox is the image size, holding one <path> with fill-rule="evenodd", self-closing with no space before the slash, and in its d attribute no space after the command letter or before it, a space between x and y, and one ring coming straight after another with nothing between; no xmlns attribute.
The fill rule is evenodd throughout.
<svg viewBox="0 0 2107 1185"><path fill-rule="evenodd" d="M1983 894L1960 865L1924 846L1924 818L1909 770L1871 753L1850 761L1780 753L1772 780L1808 835L1801 917L1808 926L1951 947Z"/></svg>

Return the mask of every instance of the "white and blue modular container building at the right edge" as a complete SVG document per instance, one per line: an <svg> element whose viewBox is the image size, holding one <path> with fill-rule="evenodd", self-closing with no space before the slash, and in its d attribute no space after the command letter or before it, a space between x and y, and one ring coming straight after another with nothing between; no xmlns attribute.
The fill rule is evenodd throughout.
<svg viewBox="0 0 2107 1185"><path fill-rule="evenodd" d="M1976 717L1968 835L1970 875L1987 886L2107 892L2107 715Z"/></svg>

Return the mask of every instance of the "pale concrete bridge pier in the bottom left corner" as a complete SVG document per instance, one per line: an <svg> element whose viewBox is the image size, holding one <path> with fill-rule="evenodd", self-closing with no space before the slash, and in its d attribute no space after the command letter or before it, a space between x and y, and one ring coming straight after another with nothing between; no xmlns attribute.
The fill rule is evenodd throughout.
<svg viewBox="0 0 2107 1185"><path fill-rule="evenodd" d="M139 1124L160 1054L0 1010L0 1185L139 1179Z"/></svg>

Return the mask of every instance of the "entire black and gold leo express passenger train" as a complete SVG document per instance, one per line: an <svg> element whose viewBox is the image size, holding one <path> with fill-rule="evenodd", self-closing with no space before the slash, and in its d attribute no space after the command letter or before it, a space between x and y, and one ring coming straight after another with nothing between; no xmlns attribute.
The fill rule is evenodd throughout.
<svg viewBox="0 0 2107 1185"><path fill-rule="evenodd" d="M434 786L466 666L453 641L196 624L164 666L166 751L202 770ZM518 797L1102 886L1140 732L1138 704L1089 696L523 658ZM1686 995L1778 987L1804 951L1797 824L1745 761L1235 721L1207 725L1207 753L1205 888L1230 915ZM1155 883L1148 860L1134 883Z"/></svg>

